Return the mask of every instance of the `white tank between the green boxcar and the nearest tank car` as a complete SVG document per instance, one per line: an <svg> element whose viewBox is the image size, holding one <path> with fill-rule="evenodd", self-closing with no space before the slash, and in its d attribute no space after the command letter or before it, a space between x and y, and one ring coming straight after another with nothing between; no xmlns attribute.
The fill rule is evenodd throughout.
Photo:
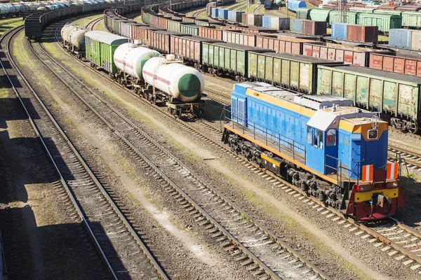
<svg viewBox="0 0 421 280"><path fill-rule="evenodd" d="M159 57L160 53L133 43L123 43L114 52L114 63L117 69L126 74L143 80L142 69L147 60L152 57Z"/></svg>

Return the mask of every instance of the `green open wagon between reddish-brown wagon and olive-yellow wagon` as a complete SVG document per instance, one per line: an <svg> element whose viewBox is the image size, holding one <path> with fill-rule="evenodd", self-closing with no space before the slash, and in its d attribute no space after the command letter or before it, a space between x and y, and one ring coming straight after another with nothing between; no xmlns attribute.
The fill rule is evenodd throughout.
<svg viewBox="0 0 421 280"><path fill-rule="evenodd" d="M232 43L202 43L202 63L213 69L245 76L248 73L248 52L267 52L263 48Z"/></svg>

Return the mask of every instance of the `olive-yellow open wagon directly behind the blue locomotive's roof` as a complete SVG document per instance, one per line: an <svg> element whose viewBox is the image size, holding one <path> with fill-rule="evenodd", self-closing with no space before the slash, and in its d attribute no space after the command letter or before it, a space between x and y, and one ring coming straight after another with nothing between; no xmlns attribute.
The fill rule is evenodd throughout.
<svg viewBox="0 0 421 280"><path fill-rule="evenodd" d="M298 92L316 94L319 64L343 64L343 62L286 52L249 52L248 77Z"/></svg>

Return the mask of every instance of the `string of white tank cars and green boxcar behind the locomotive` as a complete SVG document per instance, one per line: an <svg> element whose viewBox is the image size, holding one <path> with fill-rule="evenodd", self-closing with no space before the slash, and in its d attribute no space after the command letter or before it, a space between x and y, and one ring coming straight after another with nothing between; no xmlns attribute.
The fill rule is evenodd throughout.
<svg viewBox="0 0 421 280"><path fill-rule="evenodd" d="M196 117L203 113L203 76L182 64L180 57L162 56L137 41L129 43L126 37L74 25L65 25L61 34L63 47L69 52L81 58L81 50L86 50L92 67L103 69L112 80L150 102L167 106L173 116Z"/></svg>

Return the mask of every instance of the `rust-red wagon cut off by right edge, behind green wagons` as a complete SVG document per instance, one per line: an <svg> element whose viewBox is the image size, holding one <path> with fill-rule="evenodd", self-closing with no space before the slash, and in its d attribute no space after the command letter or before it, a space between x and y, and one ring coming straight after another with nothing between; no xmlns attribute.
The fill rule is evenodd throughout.
<svg viewBox="0 0 421 280"><path fill-rule="evenodd" d="M421 57L416 55L370 54L370 68L421 77Z"/></svg>

